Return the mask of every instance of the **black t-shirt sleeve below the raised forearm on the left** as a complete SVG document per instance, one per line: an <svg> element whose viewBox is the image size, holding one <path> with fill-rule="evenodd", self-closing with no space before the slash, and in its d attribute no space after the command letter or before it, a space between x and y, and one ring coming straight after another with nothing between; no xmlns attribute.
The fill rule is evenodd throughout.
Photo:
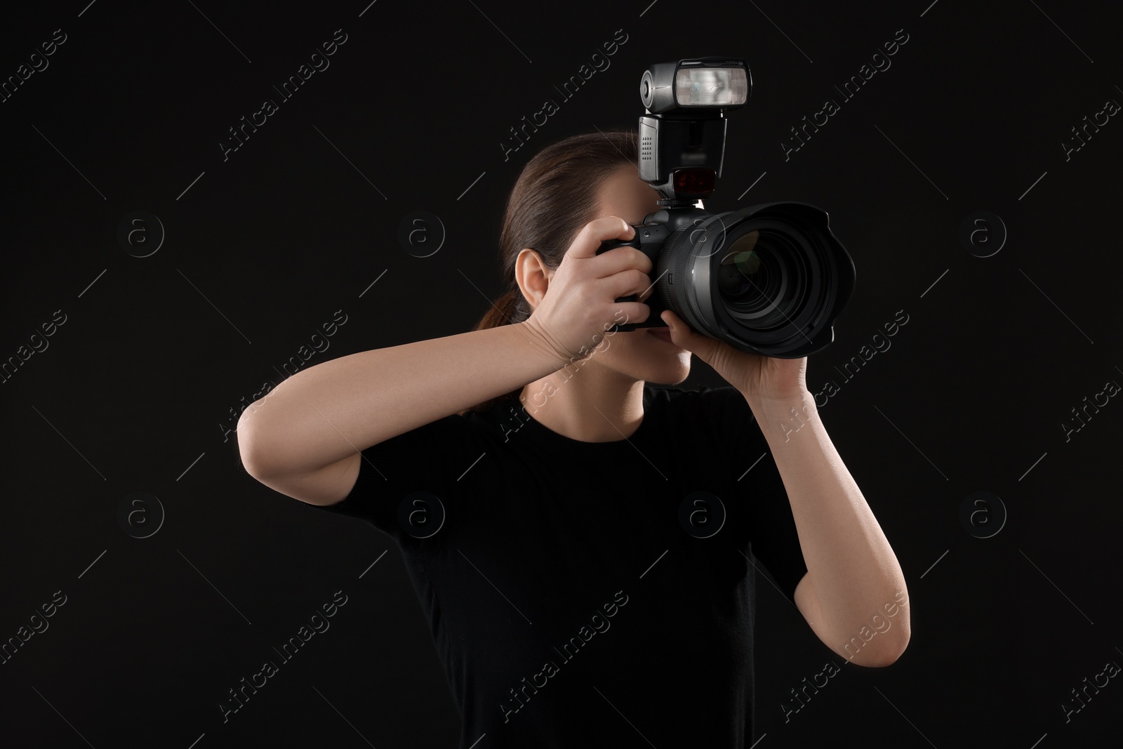
<svg viewBox="0 0 1123 749"><path fill-rule="evenodd" d="M476 449L477 429L469 415L454 413L373 445L362 450L350 493L312 506L365 520L401 548L422 538L439 542L447 533L428 531L438 530L448 509L464 499L459 477L483 451Z"/></svg>

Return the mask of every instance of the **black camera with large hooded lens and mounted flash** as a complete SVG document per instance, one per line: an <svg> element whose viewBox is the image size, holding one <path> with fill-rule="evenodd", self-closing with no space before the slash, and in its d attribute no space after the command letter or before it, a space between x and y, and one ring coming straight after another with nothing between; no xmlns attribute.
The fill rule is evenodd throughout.
<svg viewBox="0 0 1123 749"><path fill-rule="evenodd" d="M681 60L643 72L639 175L659 193L660 209L632 225L632 239L601 243L596 254L639 249L651 258L655 289L645 321L606 331L661 326L659 313L669 309L693 330L751 354L798 358L834 340L833 321L856 274L825 211L798 202L723 213L697 208L721 176L725 113L748 103L751 88L739 58Z"/></svg>

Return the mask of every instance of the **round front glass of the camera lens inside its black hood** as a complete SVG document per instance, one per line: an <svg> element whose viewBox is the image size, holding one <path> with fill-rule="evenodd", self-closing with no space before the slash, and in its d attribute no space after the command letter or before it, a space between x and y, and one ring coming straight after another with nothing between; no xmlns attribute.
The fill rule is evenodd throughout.
<svg viewBox="0 0 1123 749"><path fill-rule="evenodd" d="M734 238L721 258L719 301L747 328L783 328L805 304L806 278L803 254L787 237L754 229Z"/></svg>

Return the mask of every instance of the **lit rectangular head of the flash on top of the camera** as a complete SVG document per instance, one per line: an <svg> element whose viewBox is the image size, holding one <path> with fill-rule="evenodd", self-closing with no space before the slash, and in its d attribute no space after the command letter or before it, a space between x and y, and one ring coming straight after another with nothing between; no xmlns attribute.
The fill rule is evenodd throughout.
<svg viewBox="0 0 1123 749"><path fill-rule="evenodd" d="M749 101L752 76L743 60L696 57L677 63L656 63L639 83L639 97L650 115L688 110L722 111Z"/></svg>

